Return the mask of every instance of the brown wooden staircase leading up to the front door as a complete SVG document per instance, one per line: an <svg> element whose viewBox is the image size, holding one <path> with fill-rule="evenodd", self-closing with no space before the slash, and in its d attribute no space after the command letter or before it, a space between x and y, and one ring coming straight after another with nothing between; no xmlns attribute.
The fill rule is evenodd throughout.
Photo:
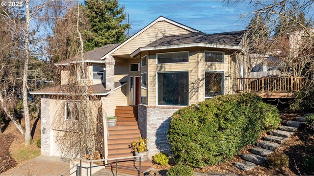
<svg viewBox="0 0 314 176"><path fill-rule="evenodd" d="M132 141L138 141L141 136L138 128L138 107L117 106L115 110L117 123L114 127L108 127L108 158L133 156L129 145ZM148 159L141 163L141 174L152 165ZM109 166L109 167L108 167ZM115 162L106 167L107 170L115 171ZM139 162L135 159L118 160L118 172L130 175L139 175Z"/></svg>

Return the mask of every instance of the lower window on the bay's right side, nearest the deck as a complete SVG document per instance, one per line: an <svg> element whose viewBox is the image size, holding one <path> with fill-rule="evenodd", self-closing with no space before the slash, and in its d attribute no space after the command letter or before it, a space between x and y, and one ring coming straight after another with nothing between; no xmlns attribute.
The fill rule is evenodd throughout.
<svg viewBox="0 0 314 176"><path fill-rule="evenodd" d="M205 71L205 98L224 94L224 72Z"/></svg>

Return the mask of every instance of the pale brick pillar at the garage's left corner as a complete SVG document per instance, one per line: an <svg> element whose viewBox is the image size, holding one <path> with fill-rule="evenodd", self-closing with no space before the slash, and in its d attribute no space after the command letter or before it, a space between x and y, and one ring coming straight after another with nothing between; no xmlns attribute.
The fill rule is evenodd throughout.
<svg viewBox="0 0 314 176"><path fill-rule="evenodd" d="M51 156L51 146L50 141L53 136L51 136L51 125L50 125L50 98L43 96L40 99L40 119L41 119L41 140L40 140L40 152L41 155Z"/></svg>

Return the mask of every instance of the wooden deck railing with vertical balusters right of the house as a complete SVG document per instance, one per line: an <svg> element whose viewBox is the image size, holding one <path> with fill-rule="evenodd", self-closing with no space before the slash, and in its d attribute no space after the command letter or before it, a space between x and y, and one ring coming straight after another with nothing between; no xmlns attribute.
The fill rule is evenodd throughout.
<svg viewBox="0 0 314 176"><path fill-rule="evenodd" d="M306 85L303 77L237 78L237 92L297 92Z"/></svg>

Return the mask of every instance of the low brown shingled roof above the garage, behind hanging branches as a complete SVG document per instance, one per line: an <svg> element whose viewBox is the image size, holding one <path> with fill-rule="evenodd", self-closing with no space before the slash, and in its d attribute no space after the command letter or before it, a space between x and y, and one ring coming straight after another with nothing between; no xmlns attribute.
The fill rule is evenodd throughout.
<svg viewBox="0 0 314 176"><path fill-rule="evenodd" d="M118 88L121 88L122 86L126 85L127 82L115 82L114 87L115 90ZM70 95L73 94L71 93L67 88L68 87L77 87L78 89L80 86L77 85L72 85L72 84L67 84L67 85L62 85L62 86L56 86L52 88L44 88L36 91L30 91L30 94L41 94L41 95ZM80 87L82 88L82 87ZM110 89L105 88L105 84L96 84L92 85L89 87L91 90L91 93L94 95L107 95L110 92Z"/></svg>

